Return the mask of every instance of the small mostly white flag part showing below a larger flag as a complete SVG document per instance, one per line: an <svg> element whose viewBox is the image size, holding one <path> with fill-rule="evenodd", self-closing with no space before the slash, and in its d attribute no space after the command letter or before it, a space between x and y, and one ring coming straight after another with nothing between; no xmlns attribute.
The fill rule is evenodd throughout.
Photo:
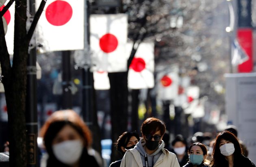
<svg viewBox="0 0 256 167"><path fill-rule="evenodd" d="M93 72L93 80L95 90L110 89L108 72Z"/></svg>

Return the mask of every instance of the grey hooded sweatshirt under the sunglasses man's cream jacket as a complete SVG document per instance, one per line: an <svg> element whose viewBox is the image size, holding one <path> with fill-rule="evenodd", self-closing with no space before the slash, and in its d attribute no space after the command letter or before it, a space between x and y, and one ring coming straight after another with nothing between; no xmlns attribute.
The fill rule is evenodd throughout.
<svg viewBox="0 0 256 167"><path fill-rule="evenodd" d="M140 155L141 155L141 160L142 160L142 163L143 163L143 167L145 167L145 154L146 151L144 150L143 146L145 145L145 142L144 142L144 139L140 139L139 142L135 145L135 149L139 151ZM150 154L148 156L148 166L149 167L153 167L154 164L156 163L156 161L158 160L158 158L161 156L162 154L162 151L161 149L163 149L165 146L165 143L163 140L160 141L159 145L158 145L158 148L157 150L153 153L153 154Z"/></svg>

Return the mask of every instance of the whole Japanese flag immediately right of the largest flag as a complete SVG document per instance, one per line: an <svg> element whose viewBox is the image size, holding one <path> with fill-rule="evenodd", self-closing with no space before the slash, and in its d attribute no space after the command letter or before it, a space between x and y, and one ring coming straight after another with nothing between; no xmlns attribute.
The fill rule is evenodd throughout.
<svg viewBox="0 0 256 167"><path fill-rule="evenodd" d="M90 46L93 71L127 71L127 30L126 14L90 16Z"/></svg>

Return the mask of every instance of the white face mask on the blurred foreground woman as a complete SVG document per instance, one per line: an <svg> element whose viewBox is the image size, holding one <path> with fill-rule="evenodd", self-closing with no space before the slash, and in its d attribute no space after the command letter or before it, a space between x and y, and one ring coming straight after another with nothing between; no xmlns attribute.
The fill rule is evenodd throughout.
<svg viewBox="0 0 256 167"><path fill-rule="evenodd" d="M80 140L68 140L54 144L52 150L57 160L66 165L73 165L82 154L83 144Z"/></svg>

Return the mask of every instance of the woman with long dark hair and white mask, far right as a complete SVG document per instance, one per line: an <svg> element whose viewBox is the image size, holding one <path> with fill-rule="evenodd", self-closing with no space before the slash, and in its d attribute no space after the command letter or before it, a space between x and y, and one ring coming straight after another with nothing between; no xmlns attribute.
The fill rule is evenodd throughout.
<svg viewBox="0 0 256 167"><path fill-rule="evenodd" d="M238 139L224 130L217 134L210 167L255 167L249 158L243 156Z"/></svg>

